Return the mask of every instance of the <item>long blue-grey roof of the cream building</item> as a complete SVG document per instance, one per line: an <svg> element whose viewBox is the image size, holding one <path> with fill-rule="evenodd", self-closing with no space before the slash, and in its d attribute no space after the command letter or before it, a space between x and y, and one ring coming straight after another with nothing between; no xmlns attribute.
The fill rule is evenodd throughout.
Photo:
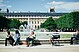
<svg viewBox="0 0 79 52"><path fill-rule="evenodd" d="M67 13L33 13L33 12L27 12L27 13L3 13L4 16L62 16Z"/></svg>

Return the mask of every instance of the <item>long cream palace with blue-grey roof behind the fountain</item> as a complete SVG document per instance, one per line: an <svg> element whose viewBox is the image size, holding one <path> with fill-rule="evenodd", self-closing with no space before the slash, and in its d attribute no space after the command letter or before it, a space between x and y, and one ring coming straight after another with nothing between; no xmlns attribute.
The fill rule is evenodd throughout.
<svg viewBox="0 0 79 52"><path fill-rule="evenodd" d="M39 29L41 23L44 23L50 16L57 19L66 13L40 13L40 12L20 12L20 13L4 13L8 19L16 18L20 22L27 21L30 29Z"/></svg>

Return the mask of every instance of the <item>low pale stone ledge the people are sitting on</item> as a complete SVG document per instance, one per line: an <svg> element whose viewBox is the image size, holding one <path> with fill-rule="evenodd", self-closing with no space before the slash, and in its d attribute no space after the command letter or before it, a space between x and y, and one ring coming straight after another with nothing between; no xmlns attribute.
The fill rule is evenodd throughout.
<svg viewBox="0 0 79 52"><path fill-rule="evenodd" d="M70 43L70 39L69 38L64 38L64 39L55 39L54 41L59 41L60 43ZM4 44L5 43L5 39L0 39L0 44ZM25 44L26 40L25 39L21 39L21 43ZM40 44L51 44L49 39L36 39L34 43L40 43Z"/></svg>

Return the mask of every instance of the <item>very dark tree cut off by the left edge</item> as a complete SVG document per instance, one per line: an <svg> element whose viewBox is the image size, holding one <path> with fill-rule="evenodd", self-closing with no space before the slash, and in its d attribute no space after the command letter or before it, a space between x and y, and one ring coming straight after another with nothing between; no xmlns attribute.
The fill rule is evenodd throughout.
<svg viewBox="0 0 79 52"><path fill-rule="evenodd" d="M6 17L0 14L0 30L3 28L9 28L9 22L10 21Z"/></svg>

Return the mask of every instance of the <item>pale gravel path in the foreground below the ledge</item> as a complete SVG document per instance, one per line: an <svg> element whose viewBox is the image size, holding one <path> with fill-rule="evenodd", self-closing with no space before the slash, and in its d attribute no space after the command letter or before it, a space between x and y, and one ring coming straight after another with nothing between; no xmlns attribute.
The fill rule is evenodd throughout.
<svg viewBox="0 0 79 52"><path fill-rule="evenodd" d="M13 47L10 45L0 45L0 52L79 52L79 45L38 45L33 47L26 47L26 45L19 45Z"/></svg>

